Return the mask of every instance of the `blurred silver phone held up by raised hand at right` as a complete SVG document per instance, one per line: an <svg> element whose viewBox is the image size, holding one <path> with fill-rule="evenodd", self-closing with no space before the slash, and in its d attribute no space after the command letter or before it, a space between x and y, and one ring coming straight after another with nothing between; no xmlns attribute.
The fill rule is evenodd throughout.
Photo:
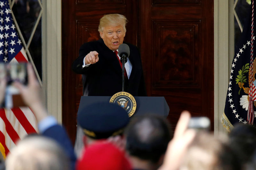
<svg viewBox="0 0 256 170"><path fill-rule="evenodd" d="M188 128L210 131L211 122L208 117L191 117L188 122Z"/></svg>

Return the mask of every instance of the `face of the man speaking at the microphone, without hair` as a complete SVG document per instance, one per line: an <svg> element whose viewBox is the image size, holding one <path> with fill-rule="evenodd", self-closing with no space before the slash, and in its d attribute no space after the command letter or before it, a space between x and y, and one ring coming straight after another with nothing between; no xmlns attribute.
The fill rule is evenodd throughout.
<svg viewBox="0 0 256 170"><path fill-rule="evenodd" d="M117 50L119 45L124 41L124 27L123 26L106 26L103 32L100 32L105 45L111 50Z"/></svg>

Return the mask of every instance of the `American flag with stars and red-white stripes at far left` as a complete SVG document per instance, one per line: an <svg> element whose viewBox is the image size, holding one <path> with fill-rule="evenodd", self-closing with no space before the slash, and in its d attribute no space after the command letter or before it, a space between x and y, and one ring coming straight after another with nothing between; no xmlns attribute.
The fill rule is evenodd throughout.
<svg viewBox="0 0 256 170"><path fill-rule="evenodd" d="M0 62L28 62L8 0L0 0ZM19 139L36 130L35 116L28 107L0 109L0 151L4 158Z"/></svg>

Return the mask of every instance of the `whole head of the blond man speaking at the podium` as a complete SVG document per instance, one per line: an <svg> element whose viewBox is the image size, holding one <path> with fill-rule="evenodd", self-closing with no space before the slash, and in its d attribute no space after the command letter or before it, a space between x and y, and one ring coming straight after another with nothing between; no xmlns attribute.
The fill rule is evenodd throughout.
<svg viewBox="0 0 256 170"><path fill-rule="evenodd" d="M123 43L128 20L121 14L108 14L100 18L98 31L105 45L111 50L117 50Z"/></svg>

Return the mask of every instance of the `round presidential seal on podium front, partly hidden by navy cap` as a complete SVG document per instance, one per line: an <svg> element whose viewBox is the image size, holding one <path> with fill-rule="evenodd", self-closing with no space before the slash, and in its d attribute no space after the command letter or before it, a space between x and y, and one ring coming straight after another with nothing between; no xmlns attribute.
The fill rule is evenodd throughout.
<svg viewBox="0 0 256 170"><path fill-rule="evenodd" d="M129 117L131 117L136 110L136 101L132 94L127 92L118 92L114 94L109 103L117 104L123 107L128 113Z"/></svg>

